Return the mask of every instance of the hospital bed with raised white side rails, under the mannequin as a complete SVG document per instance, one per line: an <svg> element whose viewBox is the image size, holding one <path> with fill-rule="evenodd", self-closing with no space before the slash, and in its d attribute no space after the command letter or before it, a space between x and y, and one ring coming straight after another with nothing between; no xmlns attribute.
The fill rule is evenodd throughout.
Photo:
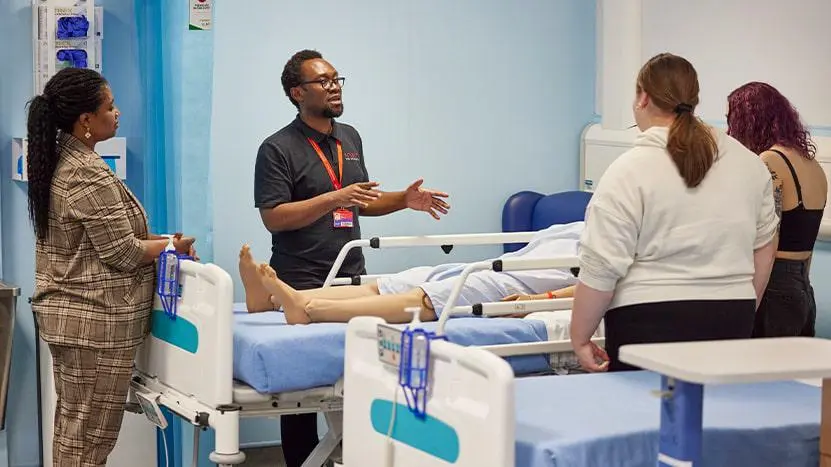
<svg viewBox="0 0 831 467"><path fill-rule="evenodd" d="M359 240L344 248L412 247L425 245L482 245L527 242L535 232L506 234L390 237ZM339 258L340 258L339 257ZM493 261L471 264L457 281L454 294L474 270L492 268L540 269L573 267L576 258ZM338 264L335 265L338 267ZM350 281L355 280L350 279ZM360 280L366 280L361 278ZM334 280L332 281L334 282ZM297 413L325 414L329 431L307 460L323 465L342 436L343 352L345 324L316 323L284 326L280 313L247 314L233 303L230 275L213 264L183 261L179 271L180 297L175 318L168 316L157 297L151 318L151 335L140 350L132 389L145 404L145 414L168 408L200 428L216 433L210 460L219 465L244 461L239 451L239 419ZM442 320L426 326L441 329L453 342L480 345L506 357L519 375L567 371L575 366L564 334L570 299L506 302L453 307L448 303ZM534 313L559 310L561 315ZM498 316L532 313L526 319L481 319L452 315ZM552 342L553 340L553 342ZM602 339L597 340L602 344ZM541 355L506 344L552 344ZM302 358L298 358L302 356ZM198 435L198 431L197 431ZM197 439L198 442L198 439Z"/></svg>

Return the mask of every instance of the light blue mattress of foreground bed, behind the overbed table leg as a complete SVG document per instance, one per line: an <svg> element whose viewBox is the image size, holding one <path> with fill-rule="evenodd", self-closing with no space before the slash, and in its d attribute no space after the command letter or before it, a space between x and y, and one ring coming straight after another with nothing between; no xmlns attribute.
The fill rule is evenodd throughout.
<svg viewBox="0 0 831 467"><path fill-rule="evenodd" d="M516 465L654 467L659 388L646 371L517 379ZM706 386L702 465L816 467L820 398L799 382Z"/></svg>

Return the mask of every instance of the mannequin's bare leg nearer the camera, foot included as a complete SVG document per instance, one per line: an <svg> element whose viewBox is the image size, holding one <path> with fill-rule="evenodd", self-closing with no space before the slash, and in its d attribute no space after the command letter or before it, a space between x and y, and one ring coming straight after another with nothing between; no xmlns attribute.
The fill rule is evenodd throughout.
<svg viewBox="0 0 831 467"><path fill-rule="evenodd" d="M267 264L259 266L263 286L283 304L289 324L305 324L312 321L345 323L356 316L378 316L389 323L406 323L412 315L405 308L419 308L422 321L434 321L429 298L421 289L403 294L375 295L345 299L312 298L294 290L281 281Z"/></svg>

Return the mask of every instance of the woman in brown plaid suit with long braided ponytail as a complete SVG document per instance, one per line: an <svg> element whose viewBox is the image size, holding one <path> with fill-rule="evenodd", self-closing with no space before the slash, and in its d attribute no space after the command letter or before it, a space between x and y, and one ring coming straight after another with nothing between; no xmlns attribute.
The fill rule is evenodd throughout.
<svg viewBox="0 0 831 467"><path fill-rule="evenodd" d="M119 111L97 72L58 72L29 104L32 310L49 344L58 400L55 466L103 467L121 428L136 350L149 330L154 260L167 238L95 153ZM177 236L192 253L192 238Z"/></svg>

